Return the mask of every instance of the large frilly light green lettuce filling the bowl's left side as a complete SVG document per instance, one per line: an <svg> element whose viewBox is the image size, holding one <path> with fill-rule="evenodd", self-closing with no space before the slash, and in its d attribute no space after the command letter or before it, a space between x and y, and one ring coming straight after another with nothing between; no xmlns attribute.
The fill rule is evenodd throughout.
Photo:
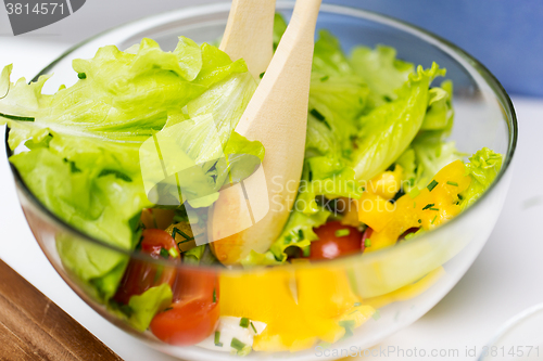
<svg viewBox="0 0 543 361"><path fill-rule="evenodd" d="M214 164L255 82L243 61L231 62L218 49L182 37L174 52L143 39L125 52L101 48L93 59L75 60L73 67L79 80L52 95L41 93L48 77L12 83L11 66L1 73L0 85L9 91L0 99L0 124L11 128L12 149L25 142L29 150L10 160L60 218L90 236L134 249L139 238L134 220L153 206L143 186L141 144L186 123L187 134L198 137L175 138L180 163L194 165L193 175L181 180L182 191L213 194L222 185ZM211 126L218 142L205 137ZM235 149L263 154L262 144L239 138L237 143ZM70 235L58 235L56 247L66 269L97 298L115 293L125 256Z"/></svg>

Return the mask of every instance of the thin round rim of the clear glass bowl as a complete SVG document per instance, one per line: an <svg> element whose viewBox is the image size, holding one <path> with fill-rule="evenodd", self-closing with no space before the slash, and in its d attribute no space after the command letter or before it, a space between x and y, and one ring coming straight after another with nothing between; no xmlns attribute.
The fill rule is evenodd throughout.
<svg viewBox="0 0 543 361"><path fill-rule="evenodd" d="M293 7L294 7L293 1L277 1L277 9L278 10L292 10ZM161 14L146 16L146 17L132 21L132 22L122 24L117 27L102 31L102 33L100 33L91 38L88 38L87 40L84 40L84 41L79 42L78 44L70 48L63 54L61 54L56 60L54 60L52 63L50 63L48 66L46 66L41 72L39 72L38 75L36 75L31 81L36 81L41 75L49 74L51 68L53 68L60 61L62 61L64 57L68 56L75 50L84 47L88 42L96 40L104 35L108 35L108 34L113 33L115 30L122 29L125 26L134 25L134 24L137 24L139 22L143 22L143 21L152 21L153 18L155 20L155 25L159 25L160 20L165 17L165 15L168 15L171 17L172 16L176 17L176 16L182 16L182 14L187 13L187 12L194 13L193 16L195 16L197 14L198 15L207 15L207 14L212 14L212 13L216 13L216 12L225 12L225 11L228 11L229 9L230 9L229 2L210 3L210 4L204 4L204 5L182 8L182 9L179 9L177 11L174 11L174 12L165 12L165 13L161 13ZM328 12L328 13L332 13L332 14L364 18L364 20L368 20L371 22L377 22L379 24L394 27L394 28L403 30L403 31L407 30L409 34L417 36L418 38L424 38L424 37L431 38L433 41L435 41L440 46L449 48L456 55L459 55L463 60L465 60L467 63L469 63L470 66L472 66L473 69L477 70L481 75L481 77L484 79L484 81L490 87L490 89L492 89L493 95L495 95L501 101L501 104L504 106L505 116L507 118L506 121L507 121L507 129L508 129L508 142L507 142L507 153L505 155L505 158L503 159L502 169L501 169L500 173L497 175L496 179L494 180L494 182L483 193L483 195L475 202L473 205L471 205L468 209L463 211L460 215L453 218L451 221L446 222L445 224L441 225L440 228L435 229L434 231L421 234L421 235L413 238L412 241L409 241L409 243L404 243L403 246L408 246L409 244L422 242L426 237L431 236L435 232L445 231L447 228L451 227L451 224L458 221L458 219L469 217L471 215L471 212L475 211L477 206L485 197L488 197L489 194L492 194L493 193L492 191L494 190L494 188L496 188L496 185L502 181L504 173L509 168L509 165L512 163L512 159L513 159L513 156L515 154L516 146L517 146L517 138L518 138L517 117L515 114L513 102L512 102L509 95L507 94L507 92L505 91L505 89L503 88L503 86L494 77L494 75L492 75L492 73L490 73L490 70L487 69L487 67L484 65L482 65L478 60L476 60L473 56L468 54L466 51L462 50L460 48L458 48L454 43L432 34L428 30L425 30L420 27L417 27L417 26L412 25L409 23L390 17L387 15L378 14L376 12L370 12L367 10L361 10L357 8L351 8L351 7L344 7L344 5L323 3L321 8L320 8L320 12ZM422 39L422 40L426 42L425 39ZM105 44L103 44L103 46L105 46ZM8 158L13 154L12 150L10 149L10 146L8 144L9 131L10 131L10 129L8 128L7 132L5 132L5 150L7 150ZM96 244L96 245L109 248L113 252L124 254L126 256L129 256L130 258L141 259L141 260L146 260L148 262L157 263L157 265L169 265L171 267L174 266L177 268L194 268L194 266L189 266L189 265L184 265L184 263L175 263L172 260L153 259L153 258L151 258L148 255L144 255L142 253L119 248L115 245L108 244L103 241L100 241L98 238L94 238L92 236L85 234L84 232L79 231L78 229L66 223L64 220L60 219L56 215L54 215L51 210L49 210L43 204L41 204L41 202L28 189L28 186L24 182L23 178L21 177L21 175L17 171L17 169L15 168L15 166L13 166L10 163L10 167L12 169L12 173L13 173L13 177L15 179L16 185L18 186L20 190L22 190L22 192L27 197L27 199L29 199L31 202L31 204L35 207L37 207L42 215L46 215L46 217L49 219L49 221L55 223L56 227L64 229L65 231L74 234L78 238L81 238L85 242L89 242L91 244ZM78 240L78 242L81 240ZM371 254L374 257L376 257L378 255L386 254L389 249L390 248L383 248L383 249L374 252ZM359 254L355 254L352 256L345 256L345 257L341 257L341 258L337 258L337 259L332 259L332 260L319 260L319 261L312 262L312 263L320 265L320 266L327 263L327 265L331 266L332 263L338 263L338 262L349 262L350 260L355 261L355 259L359 259L359 256L361 256ZM367 257L367 255L366 255L366 257ZM275 268L280 268L280 267L285 268L285 267L290 267L290 266L291 265L286 263L286 265L274 266L274 267ZM215 269L215 270L220 269L223 272L227 271L227 270L233 271L233 269L236 269L236 268L225 269L220 266L198 266L195 268L198 268L198 269Z"/></svg>

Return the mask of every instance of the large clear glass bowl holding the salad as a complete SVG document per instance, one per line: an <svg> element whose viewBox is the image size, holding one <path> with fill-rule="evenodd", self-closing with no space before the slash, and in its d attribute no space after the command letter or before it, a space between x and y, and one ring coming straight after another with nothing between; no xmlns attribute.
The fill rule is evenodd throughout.
<svg viewBox="0 0 543 361"><path fill-rule="evenodd" d="M277 4L277 10L287 18L292 9L290 2ZM173 50L179 35L195 41L213 41L223 34L228 11L228 3L180 9L103 33L71 49L45 68L40 75L54 73L45 91L74 83L77 77L72 70L72 60L92 57L101 46L116 44L126 49L142 37L149 37L162 49ZM487 68L470 55L412 25L362 10L323 4L317 28L331 30L346 51L355 44L374 47L383 43L394 47L400 59L425 67L432 62L445 67L446 78L455 85L456 116L451 139L467 154L483 146L502 153L503 167L495 182L452 221L390 248L330 261L274 268L191 269L167 260L150 260L141 254L113 247L79 232L49 211L12 166L21 205L40 247L65 282L98 313L141 341L186 360L236 358L228 352L199 346L171 346L149 331L132 328L119 312L100 301L88 282L63 262L59 256L62 240L70 238L78 249L100 249L104 257L118 257L125 262L138 260L148 262L149 267L172 268L181 273L212 274L219 280L222 314L251 319L255 309L266 307L269 311L267 320L255 321L267 322L269 334L274 327L278 328L279 322L290 322L289 348L285 347L287 341L283 338L276 337L261 343L264 345L260 346L262 351L252 352L249 359L331 359L346 356L345 352L353 354L355 350L363 354L364 349L419 319L464 275L487 242L509 185L510 162L517 141L517 123L509 98ZM8 155L11 155L9 149ZM236 292L247 288L252 293L245 297L244 308L232 308ZM278 301L279 293L289 296ZM378 312L369 312L371 308ZM362 326L355 327L363 321Z"/></svg>

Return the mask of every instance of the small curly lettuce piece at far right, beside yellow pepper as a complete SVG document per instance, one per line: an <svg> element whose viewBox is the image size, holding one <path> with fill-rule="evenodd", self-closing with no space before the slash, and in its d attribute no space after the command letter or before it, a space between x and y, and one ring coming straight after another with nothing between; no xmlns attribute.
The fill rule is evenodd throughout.
<svg viewBox="0 0 543 361"><path fill-rule="evenodd" d="M502 155L488 147L483 147L469 157L466 171L471 176L471 182L468 189L462 193L462 209L472 205L492 184L500 169L502 169Z"/></svg>

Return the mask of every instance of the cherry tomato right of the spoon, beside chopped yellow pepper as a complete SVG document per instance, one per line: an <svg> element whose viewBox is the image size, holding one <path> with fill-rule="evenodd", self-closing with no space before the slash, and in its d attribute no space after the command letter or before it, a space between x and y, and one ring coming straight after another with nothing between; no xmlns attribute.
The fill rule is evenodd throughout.
<svg viewBox="0 0 543 361"><path fill-rule="evenodd" d="M349 230L349 234L341 233ZM361 232L339 221L328 222L315 230L317 241L311 243L310 259L333 259L363 250Z"/></svg>

